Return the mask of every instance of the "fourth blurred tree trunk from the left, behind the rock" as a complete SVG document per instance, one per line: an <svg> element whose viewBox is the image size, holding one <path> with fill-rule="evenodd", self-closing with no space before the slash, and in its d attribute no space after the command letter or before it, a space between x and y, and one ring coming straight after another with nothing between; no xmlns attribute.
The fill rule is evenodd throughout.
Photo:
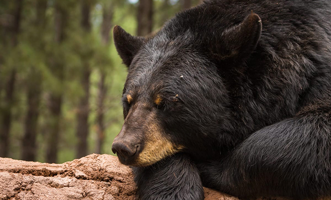
<svg viewBox="0 0 331 200"><path fill-rule="evenodd" d="M82 20L81 26L87 36L91 31L90 12L91 1L82 0ZM89 97L90 97L90 74L88 55L82 53L82 77L81 85L83 87L84 95L80 98L80 103L77 111L77 129L76 135L78 139L76 157L80 158L87 155L87 135L89 132L88 116L89 116Z"/></svg>

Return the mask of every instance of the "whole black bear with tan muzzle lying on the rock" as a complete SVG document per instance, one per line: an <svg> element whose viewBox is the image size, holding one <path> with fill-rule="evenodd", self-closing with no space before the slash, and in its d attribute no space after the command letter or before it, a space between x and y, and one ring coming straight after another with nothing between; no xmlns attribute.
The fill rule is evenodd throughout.
<svg viewBox="0 0 331 200"><path fill-rule="evenodd" d="M140 199L331 195L330 0L205 0L114 42Z"/></svg>

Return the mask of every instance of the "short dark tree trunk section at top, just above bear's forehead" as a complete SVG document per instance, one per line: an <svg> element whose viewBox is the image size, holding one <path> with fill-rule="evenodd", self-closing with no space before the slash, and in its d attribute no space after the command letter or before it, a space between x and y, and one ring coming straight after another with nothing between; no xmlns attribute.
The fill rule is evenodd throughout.
<svg viewBox="0 0 331 200"><path fill-rule="evenodd" d="M145 36L152 31L153 0L139 0L137 35Z"/></svg>

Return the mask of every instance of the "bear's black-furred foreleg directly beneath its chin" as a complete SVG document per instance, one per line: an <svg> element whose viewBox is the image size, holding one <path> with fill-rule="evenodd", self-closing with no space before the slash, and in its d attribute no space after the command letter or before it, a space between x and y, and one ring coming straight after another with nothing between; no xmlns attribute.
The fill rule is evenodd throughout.
<svg viewBox="0 0 331 200"><path fill-rule="evenodd" d="M203 200L204 190L196 165L183 153L148 167L133 167L141 200Z"/></svg>

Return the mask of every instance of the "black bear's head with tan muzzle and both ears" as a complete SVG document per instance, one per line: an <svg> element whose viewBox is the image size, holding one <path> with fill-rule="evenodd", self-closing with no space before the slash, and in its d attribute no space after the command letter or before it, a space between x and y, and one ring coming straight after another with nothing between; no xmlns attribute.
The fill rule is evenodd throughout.
<svg viewBox="0 0 331 200"><path fill-rule="evenodd" d="M112 145L123 164L148 166L177 152L208 158L236 140L219 64L240 64L255 49L260 18L251 13L216 37L203 25L181 28L180 17L149 38L114 27L116 49L128 67L124 124Z"/></svg>

